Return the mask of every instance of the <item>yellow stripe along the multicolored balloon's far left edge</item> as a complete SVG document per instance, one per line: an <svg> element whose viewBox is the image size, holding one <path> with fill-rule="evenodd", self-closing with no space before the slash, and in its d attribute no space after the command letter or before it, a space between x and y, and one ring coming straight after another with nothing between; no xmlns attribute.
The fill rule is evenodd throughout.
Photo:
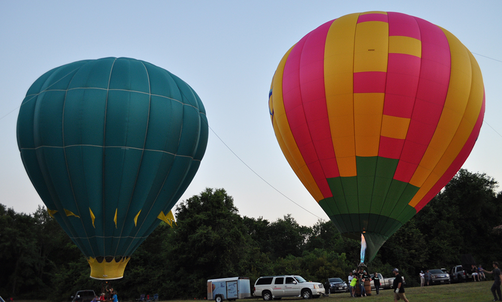
<svg viewBox="0 0 502 302"><path fill-rule="evenodd" d="M294 45L293 45L294 47ZM298 146L294 141L293 134L289 128L289 123L287 121L286 112L284 110L284 103L282 99L282 74L284 72L284 65L289 53L293 49L291 47L286 54L282 57L272 82L272 107L274 111L273 116L273 127L275 132L275 137L277 142L286 157L287 162L293 169L296 176L304 184L311 195L319 202L319 200L324 199L321 194L321 190L317 185L314 177L309 171L305 160L298 150Z"/></svg>

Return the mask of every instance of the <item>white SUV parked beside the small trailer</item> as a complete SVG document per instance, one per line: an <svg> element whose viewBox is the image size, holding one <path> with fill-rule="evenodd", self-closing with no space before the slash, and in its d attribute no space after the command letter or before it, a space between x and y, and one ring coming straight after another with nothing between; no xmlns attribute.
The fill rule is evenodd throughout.
<svg viewBox="0 0 502 302"><path fill-rule="evenodd" d="M254 283L254 296L261 296L265 301L281 297L319 297L324 292L323 283L307 282L295 275L259 277Z"/></svg>

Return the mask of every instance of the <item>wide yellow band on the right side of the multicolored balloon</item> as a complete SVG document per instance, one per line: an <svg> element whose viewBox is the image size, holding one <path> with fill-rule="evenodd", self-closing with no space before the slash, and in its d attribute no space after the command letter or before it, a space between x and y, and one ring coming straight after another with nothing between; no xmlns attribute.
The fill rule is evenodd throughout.
<svg viewBox="0 0 502 302"><path fill-rule="evenodd" d="M450 44L452 58L450 86L440 125L426 151L427 157L424 156L420 163L424 171L432 170L432 173L423 181L418 177L422 175L412 177L412 181L421 184L420 190L410 202L412 207L420 202L461 151L474 128L483 101L484 88L479 65L469 50L455 36L442 30ZM446 123L454 123L454 127L444 125ZM446 131L450 132L442 133ZM430 153L433 152L439 155L432 156Z"/></svg>

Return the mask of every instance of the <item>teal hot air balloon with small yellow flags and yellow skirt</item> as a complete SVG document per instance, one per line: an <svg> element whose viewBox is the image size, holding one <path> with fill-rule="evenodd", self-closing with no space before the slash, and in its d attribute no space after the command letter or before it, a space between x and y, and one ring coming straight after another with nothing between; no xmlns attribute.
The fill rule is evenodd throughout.
<svg viewBox="0 0 502 302"><path fill-rule="evenodd" d="M185 191L206 151L193 89L130 58L83 60L38 78L21 105L26 171L91 277L117 279Z"/></svg>

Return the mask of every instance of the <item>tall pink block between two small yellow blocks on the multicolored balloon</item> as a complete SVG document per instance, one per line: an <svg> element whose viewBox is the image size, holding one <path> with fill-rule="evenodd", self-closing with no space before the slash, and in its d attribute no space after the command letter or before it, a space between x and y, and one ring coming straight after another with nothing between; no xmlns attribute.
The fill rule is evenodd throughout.
<svg viewBox="0 0 502 302"><path fill-rule="evenodd" d="M420 58L389 53L383 114L411 118L420 76Z"/></svg>

